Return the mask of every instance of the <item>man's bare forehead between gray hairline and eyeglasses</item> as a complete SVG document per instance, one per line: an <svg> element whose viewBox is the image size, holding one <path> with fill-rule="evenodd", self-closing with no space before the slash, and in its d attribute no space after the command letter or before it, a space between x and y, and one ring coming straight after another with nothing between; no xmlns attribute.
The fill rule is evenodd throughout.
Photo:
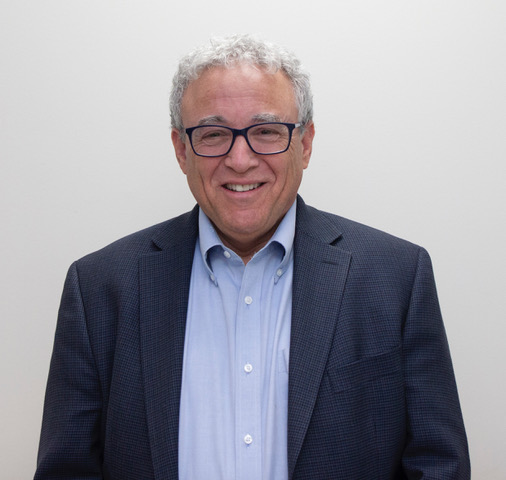
<svg viewBox="0 0 506 480"><path fill-rule="evenodd" d="M266 115L297 121L294 89L286 74L248 64L204 70L186 89L181 107L185 126L211 117L237 126Z"/></svg>

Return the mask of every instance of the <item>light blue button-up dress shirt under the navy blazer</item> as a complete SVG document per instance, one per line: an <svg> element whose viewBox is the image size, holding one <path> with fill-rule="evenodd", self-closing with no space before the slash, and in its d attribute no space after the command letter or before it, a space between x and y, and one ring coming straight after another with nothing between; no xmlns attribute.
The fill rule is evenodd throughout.
<svg viewBox="0 0 506 480"><path fill-rule="evenodd" d="M295 203L244 265L200 211L179 419L182 480L285 480Z"/></svg>

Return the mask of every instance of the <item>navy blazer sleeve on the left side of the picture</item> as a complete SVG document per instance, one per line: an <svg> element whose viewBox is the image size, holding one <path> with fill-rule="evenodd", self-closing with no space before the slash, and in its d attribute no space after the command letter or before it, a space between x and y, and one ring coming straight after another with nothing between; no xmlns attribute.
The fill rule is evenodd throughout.
<svg viewBox="0 0 506 480"><path fill-rule="evenodd" d="M76 264L58 314L34 480L102 479L101 388Z"/></svg>

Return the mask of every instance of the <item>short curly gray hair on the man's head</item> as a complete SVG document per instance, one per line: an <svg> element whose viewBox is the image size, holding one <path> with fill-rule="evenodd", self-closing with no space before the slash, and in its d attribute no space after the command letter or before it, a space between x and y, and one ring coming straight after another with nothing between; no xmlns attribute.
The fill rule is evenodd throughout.
<svg viewBox="0 0 506 480"><path fill-rule="evenodd" d="M259 40L250 35L233 35L212 38L208 45L191 51L179 62L172 80L170 93L170 118L172 128L183 134L181 103L188 85L196 80L204 69L231 67L239 63L256 65L269 73L283 71L292 82L299 111L298 122L307 125L313 118L313 95L309 74L299 59L284 48Z"/></svg>

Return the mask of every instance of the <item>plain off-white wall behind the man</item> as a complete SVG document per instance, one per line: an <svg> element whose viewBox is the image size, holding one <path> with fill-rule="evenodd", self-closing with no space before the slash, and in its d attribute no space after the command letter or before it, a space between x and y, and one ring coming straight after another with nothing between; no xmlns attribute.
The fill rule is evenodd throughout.
<svg viewBox="0 0 506 480"><path fill-rule="evenodd" d="M236 32L311 72L306 202L431 253L473 477L506 478L504 0L0 1L0 477L34 472L70 263L193 206L170 81Z"/></svg>

